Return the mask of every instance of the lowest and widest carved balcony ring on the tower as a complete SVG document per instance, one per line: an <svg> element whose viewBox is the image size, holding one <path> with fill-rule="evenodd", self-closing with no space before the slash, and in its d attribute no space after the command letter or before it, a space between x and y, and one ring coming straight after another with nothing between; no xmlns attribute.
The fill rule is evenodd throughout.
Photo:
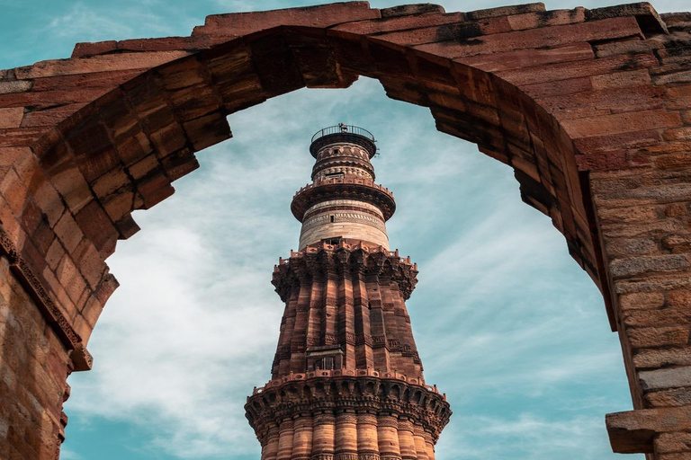
<svg viewBox="0 0 691 460"><path fill-rule="evenodd" d="M436 442L451 417L444 395L399 379L374 376L332 376L291 380L265 387L247 398L247 420L263 442L269 429L296 413L311 415L315 425L355 422L354 413L396 416L399 429L420 426ZM336 414L336 417L325 417Z"/></svg>

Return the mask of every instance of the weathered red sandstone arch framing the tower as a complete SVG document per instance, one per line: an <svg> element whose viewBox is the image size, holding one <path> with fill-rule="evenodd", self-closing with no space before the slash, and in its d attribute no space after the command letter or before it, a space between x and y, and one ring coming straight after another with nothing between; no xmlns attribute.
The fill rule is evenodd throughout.
<svg viewBox="0 0 691 460"><path fill-rule="evenodd" d="M13 432L38 432L0 455L55 457L67 375L90 367L85 345L117 287L104 260L139 229L131 211L230 137L229 113L357 75L514 168L620 334L636 410L608 416L613 447L691 455L689 31L691 14L649 4L353 2L215 15L190 37L77 44L0 71L0 351L17 394L40 405L22 418L22 397L0 393Z"/></svg>

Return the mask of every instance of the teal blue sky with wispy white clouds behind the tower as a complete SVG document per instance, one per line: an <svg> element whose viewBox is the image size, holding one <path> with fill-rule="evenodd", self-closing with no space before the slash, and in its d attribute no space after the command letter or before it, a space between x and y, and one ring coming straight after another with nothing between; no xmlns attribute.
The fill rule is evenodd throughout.
<svg viewBox="0 0 691 460"><path fill-rule="evenodd" d="M212 13L307 4L319 2L0 0L0 68L68 57L78 41L189 35ZM420 270L408 300L417 348L453 409L437 458L620 457L605 414L632 409L621 349L561 234L521 202L510 168L361 78L231 115L234 137L198 153L173 197L134 214L142 230L108 260L121 288L89 342L94 368L68 380L64 460L259 458L243 405L274 358L283 305L271 274L297 249L290 202L310 179L310 137L341 121L377 138L377 181L398 206L390 245Z"/></svg>

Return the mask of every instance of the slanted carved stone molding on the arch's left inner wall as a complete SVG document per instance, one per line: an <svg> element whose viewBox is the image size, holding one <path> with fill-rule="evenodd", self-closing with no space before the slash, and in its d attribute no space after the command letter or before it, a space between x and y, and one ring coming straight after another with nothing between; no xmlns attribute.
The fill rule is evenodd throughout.
<svg viewBox="0 0 691 460"><path fill-rule="evenodd" d="M40 313L43 314L46 322L49 323L50 327L56 332L65 348L67 350L77 349L77 346L82 342L82 338L79 337L79 334L72 328L72 325L65 315L60 312L58 305L50 298L48 289L43 287L39 277L31 270L27 261L22 258L17 247L1 226L0 250L2 250L3 254L10 262L10 270L12 270L14 276L22 284L22 287L27 290L31 298L36 302ZM80 348L83 349L82 347ZM90 358L91 355L88 355L85 349L84 351L86 352L86 356ZM76 370L84 369L80 369L77 366Z"/></svg>

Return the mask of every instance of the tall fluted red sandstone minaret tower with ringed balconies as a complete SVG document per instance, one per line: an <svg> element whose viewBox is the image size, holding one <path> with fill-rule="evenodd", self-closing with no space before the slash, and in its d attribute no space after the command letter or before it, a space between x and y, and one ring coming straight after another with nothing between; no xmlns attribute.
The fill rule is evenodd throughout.
<svg viewBox="0 0 691 460"><path fill-rule="evenodd" d="M434 460L451 416L425 384L405 301L417 264L389 250L393 194L374 183L374 137L312 137L312 183L292 199L298 252L272 283L285 303L271 380L247 398L262 460Z"/></svg>

